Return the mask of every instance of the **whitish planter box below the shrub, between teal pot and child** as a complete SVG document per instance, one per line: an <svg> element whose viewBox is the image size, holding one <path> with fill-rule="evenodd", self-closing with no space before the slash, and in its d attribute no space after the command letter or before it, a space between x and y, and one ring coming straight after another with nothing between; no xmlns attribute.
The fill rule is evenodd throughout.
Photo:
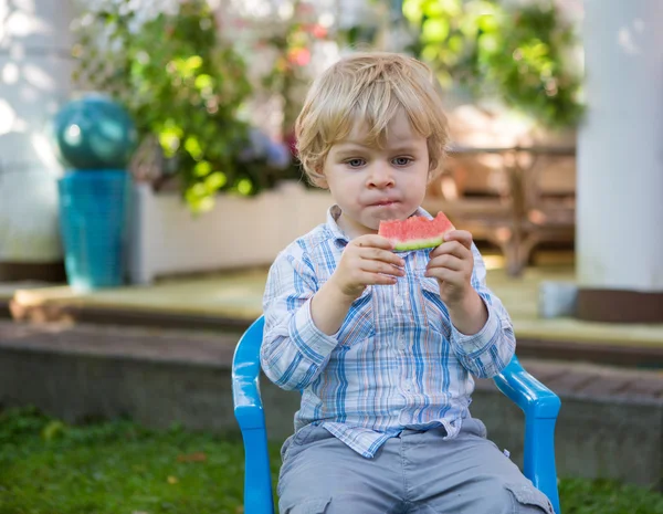
<svg viewBox="0 0 663 514"><path fill-rule="evenodd" d="M129 279L269 265L288 243L323 223L327 191L285 182L254 198L220 196L214 208L192 214L173 192L134 188Z"/></svg>

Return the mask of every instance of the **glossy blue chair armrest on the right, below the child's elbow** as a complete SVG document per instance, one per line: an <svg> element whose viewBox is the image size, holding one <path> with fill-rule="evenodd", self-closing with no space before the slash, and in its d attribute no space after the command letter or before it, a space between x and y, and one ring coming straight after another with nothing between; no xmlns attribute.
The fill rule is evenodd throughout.
<svg viewBox="0 0 663 514"><path fill-rule="evenodd" d="M514 355L504 370L494 378L497 388L516 403L527 418L555 419L559 413L559 397L529 375Z"/></svg>

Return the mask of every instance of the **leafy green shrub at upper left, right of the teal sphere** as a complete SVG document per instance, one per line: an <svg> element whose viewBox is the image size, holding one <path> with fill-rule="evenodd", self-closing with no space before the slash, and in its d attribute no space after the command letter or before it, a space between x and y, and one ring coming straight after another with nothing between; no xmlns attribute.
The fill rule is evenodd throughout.
<svg viewBox="0 0 663 514"><path fill-rule="evenodd" d="M178 13L150 19L133 3L105 2L82 18L78 80L113 93L139 134L158 138L193 211L210 209L220 190L271 187L275 178L261 162L240 160L250 145L240 111L251 87L208 2L180 2Z"/></svg>

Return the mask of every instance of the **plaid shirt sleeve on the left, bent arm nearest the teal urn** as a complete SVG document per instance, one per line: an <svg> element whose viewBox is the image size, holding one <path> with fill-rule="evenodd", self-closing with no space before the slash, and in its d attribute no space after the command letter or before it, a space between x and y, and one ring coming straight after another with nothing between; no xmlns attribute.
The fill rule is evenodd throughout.
<svg viewBox="0 0 663 514"><path fill-rule="evenodd" d="M267 275L260 358L267 378L283 389L304 389L315 380L338 343L313 323L314 270L305 254L286 249Z"/></svg>

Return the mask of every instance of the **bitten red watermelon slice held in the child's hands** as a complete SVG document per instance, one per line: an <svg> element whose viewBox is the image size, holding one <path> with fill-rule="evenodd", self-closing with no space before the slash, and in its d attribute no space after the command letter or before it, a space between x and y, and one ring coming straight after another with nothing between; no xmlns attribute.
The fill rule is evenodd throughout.
<svg viewBox="0 0 663 514"><path fill-rule="evenodd" d="M423 216L412 216L407 220L380 221L378 234L394 243L397 252L435 248L444 241L444 234L455 230L449 218L440 212L429 220Z"/></svg>

